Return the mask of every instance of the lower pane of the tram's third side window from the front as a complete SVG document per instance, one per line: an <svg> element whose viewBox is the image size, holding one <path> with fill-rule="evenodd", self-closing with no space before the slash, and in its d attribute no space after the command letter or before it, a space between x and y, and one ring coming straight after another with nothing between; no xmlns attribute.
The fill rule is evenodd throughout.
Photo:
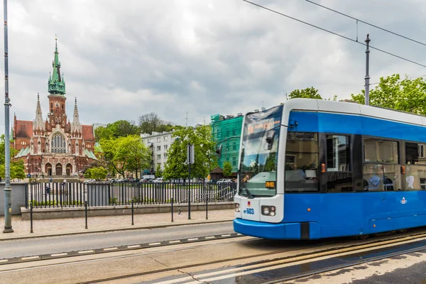
<svg viewBox="0 0 426 284"><path fill-rule="evenodd" d="M364 191L401 190L400 165L364 164Z"/></svg>

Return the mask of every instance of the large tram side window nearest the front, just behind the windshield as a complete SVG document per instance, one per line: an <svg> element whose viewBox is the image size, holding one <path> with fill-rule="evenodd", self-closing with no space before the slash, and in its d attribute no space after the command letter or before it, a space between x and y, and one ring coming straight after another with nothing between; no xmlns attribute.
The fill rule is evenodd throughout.
<svg viewBox="0 0 426 284"><path fill-rule="evenodd" d="M289 131L285 152L285 191L318 192L318 134Z"/></svg>

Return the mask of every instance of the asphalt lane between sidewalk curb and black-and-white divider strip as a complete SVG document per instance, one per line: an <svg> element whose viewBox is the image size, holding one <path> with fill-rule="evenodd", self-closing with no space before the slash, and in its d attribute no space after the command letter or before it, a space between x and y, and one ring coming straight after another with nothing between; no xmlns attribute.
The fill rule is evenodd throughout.
<svg viewBox="0 0 426 284"><path fill-rule="evenodd" d="M234 233L232 222L0 241L0 259Z"/></svg>

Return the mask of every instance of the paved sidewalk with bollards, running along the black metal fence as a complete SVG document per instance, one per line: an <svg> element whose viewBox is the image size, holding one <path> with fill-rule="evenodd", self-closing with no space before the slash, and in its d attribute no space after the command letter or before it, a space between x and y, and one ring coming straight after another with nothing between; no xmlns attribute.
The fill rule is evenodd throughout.
<svg viewBox="0 0 426 284"><path fill-rule="evenodd" d="M0 217L0 241L8 239L25 239L40 236L60 236L67 234L85 234L99 231L120 231L126 229L144 229L162 226L176 226L180 224L200 224L209 222L225 222L234 219L234 209L209 211L206 220L206 212L175 213L174 222L171 222L170 213L135 214L134 225L131 226L131 215L89 217L88 229L84 229L84 218L66 219L40 219L33 220L33 234L30 233L30 221L22 221L21 216L12 216L13 233L2 233L4 229L4 217Z"/></svg>

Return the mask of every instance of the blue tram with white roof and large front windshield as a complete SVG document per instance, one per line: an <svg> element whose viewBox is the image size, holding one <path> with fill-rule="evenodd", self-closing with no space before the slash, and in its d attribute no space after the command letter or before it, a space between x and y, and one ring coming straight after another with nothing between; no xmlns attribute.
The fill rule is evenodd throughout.
<svg viewBox="0 0 426 284"><path fill-rule="evenodd" d="M266 239L426 225L426 117L291 99L246 114L234 230Z"/></svg>

